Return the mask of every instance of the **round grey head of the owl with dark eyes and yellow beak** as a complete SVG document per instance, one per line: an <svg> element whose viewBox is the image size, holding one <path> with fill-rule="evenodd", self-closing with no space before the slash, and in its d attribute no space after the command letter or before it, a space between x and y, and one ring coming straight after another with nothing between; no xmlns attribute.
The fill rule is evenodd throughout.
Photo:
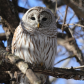
<svg viewBox="0 0 84 84"><path fill-rule="evenodd" d="M21 20L26 30L46 31L56 28L56 21L53 13L44 7L33 7L29 9Z"/></svg>

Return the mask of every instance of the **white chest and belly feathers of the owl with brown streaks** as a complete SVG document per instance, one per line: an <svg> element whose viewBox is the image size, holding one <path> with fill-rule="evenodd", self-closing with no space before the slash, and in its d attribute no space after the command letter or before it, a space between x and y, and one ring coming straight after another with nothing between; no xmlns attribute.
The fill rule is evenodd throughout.
<svg viewBox="0 0 84 84"><path fill-rule="evenodd" d="M46 67L53 65L56 55L56 39L45 35L21 33L16 43L15 55L26 62L43 63Z"/></svg>

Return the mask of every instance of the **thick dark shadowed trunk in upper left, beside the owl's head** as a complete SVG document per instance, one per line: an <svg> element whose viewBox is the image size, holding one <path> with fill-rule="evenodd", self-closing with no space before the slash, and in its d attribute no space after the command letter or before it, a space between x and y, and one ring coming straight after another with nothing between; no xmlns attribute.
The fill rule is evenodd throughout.
<svg viewBox="0 0 84 84"><path fill-rule="evenodd" d="M13 9L11 10L11 6L8 1L9 0L0 0L0 16L2 16L2 18L8 23L10 31L14 32L15 28L19 24L19 21L17 18L18 16L13 13ZM7 27L7 25L4 25L4 27Z"/></svg>

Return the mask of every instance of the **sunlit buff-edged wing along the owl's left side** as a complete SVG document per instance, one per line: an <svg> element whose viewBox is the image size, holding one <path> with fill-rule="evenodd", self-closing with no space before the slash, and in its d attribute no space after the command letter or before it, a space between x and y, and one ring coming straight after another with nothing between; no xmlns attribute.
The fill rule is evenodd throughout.
<svg viewBox="0 0 84 84"><path fill-rule="evenodd" d="M12 54L14 53L14 50L16 49L16 42L18 40L18 35L21 33L22 31L22 28L21 28L21 25L19 25L16 29L15 29L15 32L14 32L14 35L13 35L13 39L12 39Z"/></svg>

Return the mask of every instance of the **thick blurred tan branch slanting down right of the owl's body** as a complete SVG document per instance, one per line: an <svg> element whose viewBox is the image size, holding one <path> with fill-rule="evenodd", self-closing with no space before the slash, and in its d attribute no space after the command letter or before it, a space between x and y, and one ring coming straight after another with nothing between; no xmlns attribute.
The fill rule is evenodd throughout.
<svg viewBox="0 0 84 84"><path fill-rule="evenodd" d="M60 33L58 33L59 35ZM81 52L81 50L79 49L76 41L74 38L69 38L67 36L67 34L64 34L63 36L61 36L61 34L59 35L59 37L57 38L57 43L59 45L64 46L67 50L72 51L73 55L76 55L77 61L83 65L83 54Z"/></svg>

